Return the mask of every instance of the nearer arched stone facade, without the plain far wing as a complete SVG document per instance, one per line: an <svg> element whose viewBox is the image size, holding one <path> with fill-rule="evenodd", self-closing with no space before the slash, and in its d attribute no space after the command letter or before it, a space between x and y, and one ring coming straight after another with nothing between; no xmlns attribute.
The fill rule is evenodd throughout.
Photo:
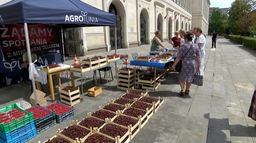
<svg viewBox="0 0 256 143"><path fill-rule="evenodd" d="M156 30L162 32L162 40L166 41L174 36L175 30L191 28L191 0L82 1L117 15L117 48L151 44ZM113 50L114 30L114 27L82 28L84 53Z"/></svg>

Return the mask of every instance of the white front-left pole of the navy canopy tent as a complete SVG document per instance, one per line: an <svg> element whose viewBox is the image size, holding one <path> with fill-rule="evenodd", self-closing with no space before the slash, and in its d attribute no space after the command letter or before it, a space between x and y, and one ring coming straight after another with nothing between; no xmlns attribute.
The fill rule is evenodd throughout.
<svg viewBox="0 0 256 143"><path fill-rule="evenodd" d="M26 37L26 45L27 45L27 53L28 53L28 62L29 62L29 64L31 64L34 61L32 61L32 58L31 58L27 23L24 23L24 29L25 29L25 37ZM37 95L36 95L36 85L35 85L34 73L32 73L32 86L33 86L33 91L34 91L34 96L35 96L35 103L38 103Z"/></svg>

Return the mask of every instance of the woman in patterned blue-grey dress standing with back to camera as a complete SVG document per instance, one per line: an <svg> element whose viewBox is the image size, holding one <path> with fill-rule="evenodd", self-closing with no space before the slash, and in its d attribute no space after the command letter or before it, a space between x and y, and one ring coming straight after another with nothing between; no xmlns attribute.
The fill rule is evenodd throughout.
<svg viewBox="0 0 256 143"><path fill-rule="evenodd" d="M179 54L173 64L173 68L182 60L182 67L179 73L180 95L189 94L189 88L196 71L200 69L200 51L196 44L192 43L190 33L185 35L185 44L180 46ZM186 89L185 89L186 85Z"/></svg>

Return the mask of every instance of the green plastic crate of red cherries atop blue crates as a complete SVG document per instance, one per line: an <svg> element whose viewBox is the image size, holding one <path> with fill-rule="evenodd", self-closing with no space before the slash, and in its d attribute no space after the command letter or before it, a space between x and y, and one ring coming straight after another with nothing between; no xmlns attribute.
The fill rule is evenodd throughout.
<svg viewBox="0 0 256 143"><path fill-rule="evenodd" d="M33 113L22 110L17 104L0 108L0 130L4 133L13 131L34 121Z"/></svg>

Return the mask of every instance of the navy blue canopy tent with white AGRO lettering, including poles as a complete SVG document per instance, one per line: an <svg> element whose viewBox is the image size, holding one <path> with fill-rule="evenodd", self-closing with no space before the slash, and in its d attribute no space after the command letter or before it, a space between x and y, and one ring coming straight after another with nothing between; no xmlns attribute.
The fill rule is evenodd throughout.
<svg viewBox="0 0 256 143"><path fill-rule="evenodd" d="M59 26L63 48L62 28L116 26L116 15L79 0L13 0L0 6L0 24L15 23L24 23L28 58L32 63L27 23ZM34 78L32 83L36 91ZM36 92L35 100L37 103Z"/></svg>

